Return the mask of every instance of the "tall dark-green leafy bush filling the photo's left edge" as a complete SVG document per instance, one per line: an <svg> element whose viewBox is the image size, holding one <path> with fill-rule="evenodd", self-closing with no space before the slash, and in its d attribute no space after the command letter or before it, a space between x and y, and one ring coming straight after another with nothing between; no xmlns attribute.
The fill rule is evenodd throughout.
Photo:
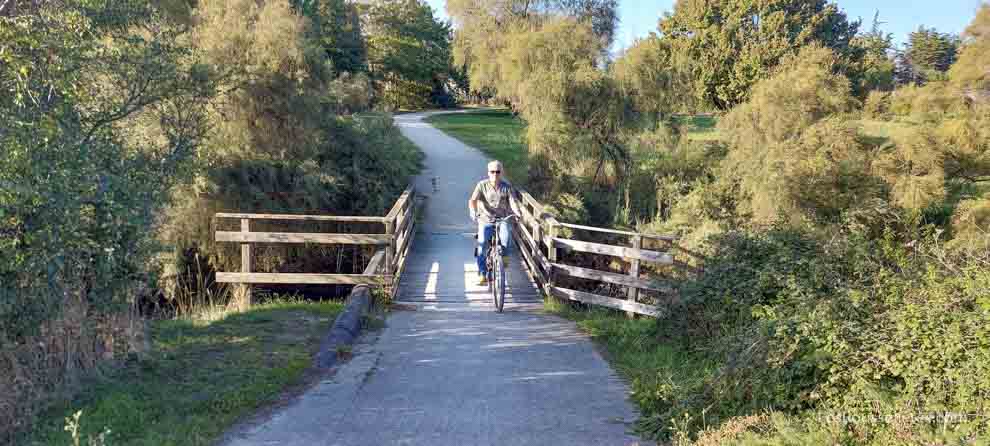
<svg viewBox="0 0 990 446"><path fill-rule="evenodd" d="M20 12L0 17L0 442L140 347L128 310L149 233L188 178L211 88L145 3Z"/></svg>

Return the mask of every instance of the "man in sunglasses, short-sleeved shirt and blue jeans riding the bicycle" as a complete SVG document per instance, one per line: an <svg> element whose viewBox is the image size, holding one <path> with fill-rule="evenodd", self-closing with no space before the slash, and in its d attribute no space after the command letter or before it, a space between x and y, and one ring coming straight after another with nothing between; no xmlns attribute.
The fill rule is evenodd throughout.
<svg viewBox="0 0 990 446"><path fill-rule="evenodd" d="M471 213L471 220L478 222L478 285L486 284L488 265L485 259L488 257L488 244L495 234L495 221L500 220L497 230L499 240L502 243L503 263L508 263L507 256L512 241L512 226L508 220L503 220L510 215L517 215L515 210L515 199L519 199L519 191L512 187L512 184L502 179L502 163L492 161L488 163L488 178L478 182L474 187L474 192L468 200L468 211Z"/></svg>

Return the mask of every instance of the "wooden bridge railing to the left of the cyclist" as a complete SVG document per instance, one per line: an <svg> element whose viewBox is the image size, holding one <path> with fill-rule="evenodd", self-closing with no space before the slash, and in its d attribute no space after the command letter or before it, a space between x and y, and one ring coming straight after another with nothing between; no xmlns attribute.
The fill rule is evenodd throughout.
<svg viewBox="0 0 990 446"><path fill-rule="evenodd" d="M216 280L247 287L248 292L251 284L371 285L386 287L394 295L394 285L402 273L415 234L417 206L415 206L414 194L415 189L410 185L385 217L217 213L218 219L239 219L241 222L240 231L218 230L215 234L218 243L241 244L241 271L217 272ZM254 220L377 223L384 227L384 232L377 234L252 232L251 222ZM375 253L361 274L260 273L251 271L253 243L370 245L375 247Z"/></svg>

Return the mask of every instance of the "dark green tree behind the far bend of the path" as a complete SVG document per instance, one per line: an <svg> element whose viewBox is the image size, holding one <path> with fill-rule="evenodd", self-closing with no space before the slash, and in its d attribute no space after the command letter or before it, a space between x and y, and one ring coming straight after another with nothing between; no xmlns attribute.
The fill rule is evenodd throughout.
<svg viewBox="0 0 990 446"><path fill-rule="evenodd" d="M442 100L452 71L449 26L422 0L379 0L362 9L369 71L380 100L393 109Z"/></svg>

